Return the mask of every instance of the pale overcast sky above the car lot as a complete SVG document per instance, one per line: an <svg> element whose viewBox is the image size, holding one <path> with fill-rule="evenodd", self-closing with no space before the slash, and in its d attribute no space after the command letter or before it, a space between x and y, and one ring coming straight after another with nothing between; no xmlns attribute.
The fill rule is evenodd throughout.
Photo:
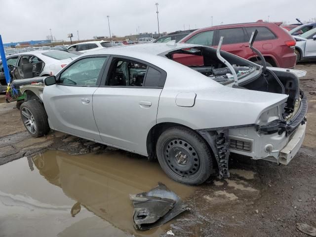
<svg viewBox="0 0 316 237"><path fill-rule="evenodd" d="M0 34L4 43L45 40L50 34L66 40L161 32L213 25L253 22L259 19L296 23L316 17L316 0L0 0Z"/></svg>

